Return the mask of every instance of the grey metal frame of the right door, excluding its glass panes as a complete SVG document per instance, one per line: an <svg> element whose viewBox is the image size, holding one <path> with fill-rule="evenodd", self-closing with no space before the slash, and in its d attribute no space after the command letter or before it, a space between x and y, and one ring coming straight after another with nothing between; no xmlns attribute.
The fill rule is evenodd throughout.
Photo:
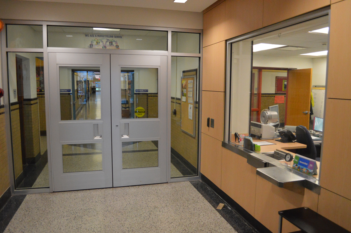
<svg viewBox="0 0 351 233"><path fill-rule="evenodd" d="M158 68L158 118L121 119L121 67ZM167 83L167 56L111 54L111 98L117 103L115 105L117 107L115 107L111 102L114 187L167 182L169 162L167 153ZM114 91L112 88L118 91ZM140 135L150 133L151 137L130 135L130 138L122 139L121 135L125 123L129 123L130 132L133 130L133 124L139 124L141 126ZM157 125L159 125L159 129L157 129ZM153 140L158 141L157 167L122 169L122 142Z"/></svg>

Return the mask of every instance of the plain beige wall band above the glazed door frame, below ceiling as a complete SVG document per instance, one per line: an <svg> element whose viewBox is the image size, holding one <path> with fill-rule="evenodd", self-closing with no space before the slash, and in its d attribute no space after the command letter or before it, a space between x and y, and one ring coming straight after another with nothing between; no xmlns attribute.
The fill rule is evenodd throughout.
<svg viewBox="0 0 351 233"><path fill-rule="evenodd" d="M203 28L202 12L64 2L0 0L1 19Z"/></svg>

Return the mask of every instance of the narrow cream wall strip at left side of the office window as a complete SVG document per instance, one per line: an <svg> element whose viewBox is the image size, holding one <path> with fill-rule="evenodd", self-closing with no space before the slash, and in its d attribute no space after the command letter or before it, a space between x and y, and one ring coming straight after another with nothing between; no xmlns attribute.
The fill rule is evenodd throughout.
<svg viewBox="0 0 351 233"><path fill-rule="evenodd" d="M232 133L249 133L251 41L232 44Z"/></svg>

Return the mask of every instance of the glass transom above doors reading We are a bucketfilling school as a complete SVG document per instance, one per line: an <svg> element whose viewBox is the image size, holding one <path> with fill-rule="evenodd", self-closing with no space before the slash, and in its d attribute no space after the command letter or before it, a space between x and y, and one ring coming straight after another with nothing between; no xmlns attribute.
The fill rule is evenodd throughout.
<svg viewBox="0 0 351 233"><path fill-rule="evenodd" d="M167 32L48 26L48 47L167 51Z"/></svg>

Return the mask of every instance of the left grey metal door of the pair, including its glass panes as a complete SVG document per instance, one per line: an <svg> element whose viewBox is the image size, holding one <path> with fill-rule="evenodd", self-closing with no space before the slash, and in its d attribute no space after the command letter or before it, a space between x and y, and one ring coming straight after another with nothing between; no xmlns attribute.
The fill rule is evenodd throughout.
<svg viewBox="0 0 351 233"><path fill-rule="evenodd" d="M49 53L49 90L54 191L112 187L110 55Z"/></svg>

